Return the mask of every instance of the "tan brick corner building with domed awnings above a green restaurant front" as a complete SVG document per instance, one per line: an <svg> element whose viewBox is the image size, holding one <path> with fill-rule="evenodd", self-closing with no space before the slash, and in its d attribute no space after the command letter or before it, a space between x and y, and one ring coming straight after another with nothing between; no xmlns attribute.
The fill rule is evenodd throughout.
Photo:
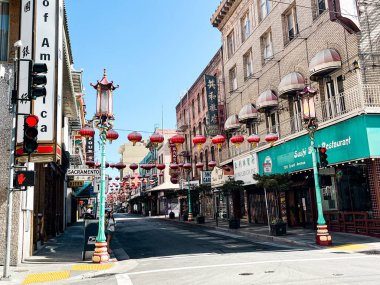
<svg viewBox="0 0 380 285"><path fill-rule="evenodd" d="M342 11L349 13L344 15L333 11L332 0L223 0L213 14L224 50L225 127L229 137L245 137L239 148L230 146L225 159L233 159L235 179L245 182L251 222L267 221L263 189L252 174L289 172L294 187L281 197L269 193L270 218L279 203L290 226L315 225L310 140L298 95L310 86L318 91L316 144L327 148L329 158L320 170L326 220L333 230L379 233L375 2L358 1L356 7L355 1L344 1ZM260 137L255 147L247 142L252 134ZM265 141L276 137L274 143ZM364 226L364 220L373 226Z"/></svg>

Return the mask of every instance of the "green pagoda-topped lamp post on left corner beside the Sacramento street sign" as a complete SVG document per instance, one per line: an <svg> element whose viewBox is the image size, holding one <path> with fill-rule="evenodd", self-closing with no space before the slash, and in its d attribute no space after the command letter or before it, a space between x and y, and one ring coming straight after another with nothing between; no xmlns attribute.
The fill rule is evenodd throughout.
<svg viewBox="0 0 380 285"><path fill-rule="evenodd" d="M100 160L100 199L99 199L99 226L98 235L96 237L95 252L92 256L92 261L94 263L106 263L109 261L109 254L107 250L107 241L105 235L105 185L106 185L106 142L109 140L115 140L119 137L118 133L112 130L114 123L113 115L113 94L112 92L119 86L114 86L113 81L108 81L106 70L104 69L104 74L102 80L98 80L96 84L91 84L96 89L96 113L91 121L92 124L100 132L100 143L101 143L101 160ZM84 129L87 129L87 135L89 135L90 127L84 127L81 129L80 133L82 136L86 136ZM92 129L92 136L94 135L94 130Z"/></svg>

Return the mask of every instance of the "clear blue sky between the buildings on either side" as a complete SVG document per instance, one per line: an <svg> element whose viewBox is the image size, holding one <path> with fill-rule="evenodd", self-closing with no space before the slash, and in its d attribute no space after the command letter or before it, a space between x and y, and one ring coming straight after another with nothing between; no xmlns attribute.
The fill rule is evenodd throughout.
<svg viewBox="0 0 380 285"><path fill-rule="evenodd" d="M90 83L101 79L103 68L108 79L120 85L114 93L120 137L107 152L107 161L118 161L117 147L127 142L129 133L122 130L151 132L155 125L161 127L162 109L164 128L175 128L180 95L221 46L221 34L210 24L220 0L65 3L74 67L84 70L88 118L95 112Z"/></svg>

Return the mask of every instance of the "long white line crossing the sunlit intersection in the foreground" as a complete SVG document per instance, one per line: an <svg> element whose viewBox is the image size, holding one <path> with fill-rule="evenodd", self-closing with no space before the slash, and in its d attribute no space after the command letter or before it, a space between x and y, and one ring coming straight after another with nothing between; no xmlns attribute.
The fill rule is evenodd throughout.
<svg viewBox="0 0 380 285"><path fill-rule="evenodd" d="M306 261L332 261L332 260L348 260L348 259L362 259L362 258L376 258L377 256L365 255L365 256L351 256L351 257L332 257L332 258L301 258L301 259L283 259L283 260L266 260L266 261L252 261L252 262L241 262L241 263L226 263L226 264L211 264L211 265L200 265L200 266L189 266L189 267L177 267L177 268L164 268L155 270L145 270L128 273L131 275L143 275L158 272L170 272L170 271L183 271L183 270L194 270L194 269L205 269L205 268L217 268L217 267L231 267L231 266L242 266L242 265L255 265L255 264L270 264L270 263L292 263L292 262L306 262Z"/></svg>

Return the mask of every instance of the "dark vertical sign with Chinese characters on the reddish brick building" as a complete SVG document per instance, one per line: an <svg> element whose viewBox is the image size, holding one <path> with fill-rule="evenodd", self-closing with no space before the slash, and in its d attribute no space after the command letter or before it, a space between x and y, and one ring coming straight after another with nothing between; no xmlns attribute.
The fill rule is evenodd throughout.
<svg viewBox="0 0 380 285"><path fill-rule="evenodd" d="M205 75L209 136L219 133L218 128L218 82L215 76Z"/></svg>

